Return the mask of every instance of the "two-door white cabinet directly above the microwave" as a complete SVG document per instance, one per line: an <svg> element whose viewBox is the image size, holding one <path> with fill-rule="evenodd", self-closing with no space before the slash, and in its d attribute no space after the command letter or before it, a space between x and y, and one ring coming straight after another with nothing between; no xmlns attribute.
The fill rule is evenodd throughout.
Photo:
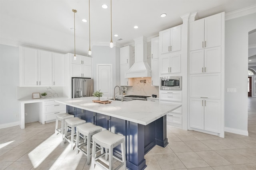
<svg viewBox="0 0 256 170"><path fill-rule="evenodd" d="M160 57L160 74L180 73L180 53L171 53Z"/></svg>

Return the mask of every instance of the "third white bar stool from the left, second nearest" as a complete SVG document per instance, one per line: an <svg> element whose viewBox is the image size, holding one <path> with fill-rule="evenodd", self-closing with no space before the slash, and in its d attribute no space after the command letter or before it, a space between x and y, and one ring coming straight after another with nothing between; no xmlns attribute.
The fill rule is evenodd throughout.
<svg viewBox="0 0 256 170"><path fill-rule="evenodd" d="M87 156L88 165L90 164L92 135L99 133L100 131L102 131L102 127L92 123L85 123L76 127L76 154L78 154L78 150L85 154ZM84 143L79 145L80 134L84 135ZM85 145L87 145L87 152L83 149L83 146Z"/></svg>

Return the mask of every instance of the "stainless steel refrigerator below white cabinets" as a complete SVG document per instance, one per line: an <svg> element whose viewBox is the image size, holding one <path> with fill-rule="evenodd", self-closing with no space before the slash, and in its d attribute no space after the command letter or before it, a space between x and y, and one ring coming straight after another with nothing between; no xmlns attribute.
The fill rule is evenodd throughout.
<svg viewBox="0 0 256 170"><path fill-rule="evenodd" d="M72 98L92 96L93 79L72 77Z"/></svg>

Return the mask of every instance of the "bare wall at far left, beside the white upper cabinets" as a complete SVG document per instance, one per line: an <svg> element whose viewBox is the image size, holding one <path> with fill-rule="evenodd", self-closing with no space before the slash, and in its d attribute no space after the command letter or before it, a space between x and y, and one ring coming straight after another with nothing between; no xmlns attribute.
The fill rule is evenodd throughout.
<svg viewBox="0 0 256 170"><path fill-rule="evenodd" d="M19 48L0 45L0 124L18 121Z"/></svg>

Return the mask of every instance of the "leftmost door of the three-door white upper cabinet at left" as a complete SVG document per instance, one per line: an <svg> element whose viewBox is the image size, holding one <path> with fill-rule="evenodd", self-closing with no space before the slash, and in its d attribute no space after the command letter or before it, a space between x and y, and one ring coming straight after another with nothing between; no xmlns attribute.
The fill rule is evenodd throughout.
<svg viewBox="0 0 256 170"><path fill-rule="evenodd" d="M38 51L20 48L20 86L38 85Z"/></svg>

